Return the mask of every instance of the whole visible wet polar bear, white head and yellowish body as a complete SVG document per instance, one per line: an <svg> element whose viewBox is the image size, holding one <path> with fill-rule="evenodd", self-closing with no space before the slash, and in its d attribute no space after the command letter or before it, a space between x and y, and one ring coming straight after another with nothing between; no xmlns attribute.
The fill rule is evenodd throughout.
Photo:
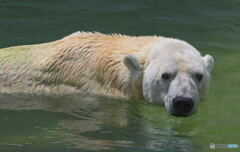
<svg viewBox="0 0 240 152"><path fill-rule="evenodd" d="M76 32L0 49L0 91L145 98L174 116L189 116L207 95L213 64L178 39Z"/></svg>

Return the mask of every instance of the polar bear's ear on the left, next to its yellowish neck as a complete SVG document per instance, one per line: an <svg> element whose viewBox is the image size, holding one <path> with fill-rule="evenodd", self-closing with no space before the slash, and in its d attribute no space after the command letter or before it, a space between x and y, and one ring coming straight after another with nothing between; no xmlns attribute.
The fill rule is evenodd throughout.
<svg viewBox="0 0 240 152"><path fill-rule="evenodd" d="M142 65L139 61L139 57L136 55L126 55L123 58L123 63L131 73L138 73L142 71Z"/></svg>

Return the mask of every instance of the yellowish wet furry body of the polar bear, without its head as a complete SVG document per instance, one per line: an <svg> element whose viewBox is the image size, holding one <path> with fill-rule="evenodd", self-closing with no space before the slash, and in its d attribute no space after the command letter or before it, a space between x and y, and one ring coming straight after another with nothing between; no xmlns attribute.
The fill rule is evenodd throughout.
<svg viewBox="0 0 240 152"><path fill-rule="evenodd" d="M77 32L50 43L0 49L1 92L128 97L129 72L122 59L154 39Z"/></svg>

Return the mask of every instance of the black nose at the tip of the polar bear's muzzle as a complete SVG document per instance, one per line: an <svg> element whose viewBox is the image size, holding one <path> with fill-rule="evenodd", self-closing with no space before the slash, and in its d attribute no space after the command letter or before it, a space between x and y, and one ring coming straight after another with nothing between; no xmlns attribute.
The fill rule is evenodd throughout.
<svg viewBox="0 0 240 152"><path fill-rule="evenodd" d="M191 98L181 96L174 98L172 103L173 110L176 116L184 116L189 113L194 107L194 103Z"/></svg>

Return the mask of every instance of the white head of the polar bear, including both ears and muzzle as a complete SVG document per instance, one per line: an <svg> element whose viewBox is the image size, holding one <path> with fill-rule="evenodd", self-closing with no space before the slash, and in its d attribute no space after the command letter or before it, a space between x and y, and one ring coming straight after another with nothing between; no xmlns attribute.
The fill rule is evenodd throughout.
<svg viewBox="0 0 240 152"><path fill-rule="evenodd" d="M196 113L208 93L213 58L202 57L193 46L177 39L156 41L140 52L124 57L133 89L141 85L149 103L165 106L174 116Z"/></svg>

